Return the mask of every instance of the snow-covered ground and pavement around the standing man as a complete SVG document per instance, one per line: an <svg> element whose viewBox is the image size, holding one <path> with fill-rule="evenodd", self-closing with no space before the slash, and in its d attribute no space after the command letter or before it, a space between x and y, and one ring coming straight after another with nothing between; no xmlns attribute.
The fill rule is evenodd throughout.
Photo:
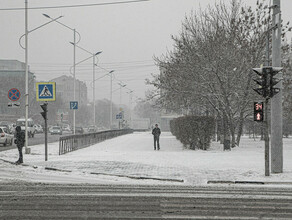
<svg viewBox="0 0 292 220"><path fill-rule="evenodd" d="M48 145L48 161L44 144L36 145L31 147L31 154L24 154L28 166L0 161L0 181L181 185L205 185L208 180L292 182L292 138L283 139L284 172L269 177L264 175L264 142L259 139L242 137L240 147L231 151L223 151L217 142L208 151L193 151L184 149L171 133L163 132L160 143L161 150L154 151L151 133L135 132L61 156L59 143L52 143ZM16 161L18 151L0 152L0 158ZM72 172L50 171L45 167Z"/></svg>

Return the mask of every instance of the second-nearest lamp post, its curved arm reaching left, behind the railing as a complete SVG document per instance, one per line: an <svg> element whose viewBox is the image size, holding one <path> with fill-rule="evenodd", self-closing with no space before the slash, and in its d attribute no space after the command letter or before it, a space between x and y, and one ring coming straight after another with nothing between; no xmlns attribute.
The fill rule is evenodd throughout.
<svg viewBox="0 0 292 220"><path fill-rule="evenodd" d="M46 18L49 18L51 20L54 20L53 18L51 18L47 14L43 14L43 16L45 16ZM71 28L71 27L69 27L69 26L67 26L59 21L56 21L56 20L54 20L54 21L57 22L58 24L62 25L63 27L66 27L67 29L73 31L73 39L74 39L74 42L73 42L74 43L74 45L73 45L74 46L73 47L73 78L74 78L74 80L73 80L73 99L74 100L73 101L76 101L75 100L76 99L76 92L75 92L75 87L76 87L76 77L75 77L76 44L78 44L79 41L81 40L81 36L80 36L79 32L75 30L75 28ZM76 33L79 35L79 39L77 42L76 42ZM75 110L73 110L73 134L75 134Z"/></svg>

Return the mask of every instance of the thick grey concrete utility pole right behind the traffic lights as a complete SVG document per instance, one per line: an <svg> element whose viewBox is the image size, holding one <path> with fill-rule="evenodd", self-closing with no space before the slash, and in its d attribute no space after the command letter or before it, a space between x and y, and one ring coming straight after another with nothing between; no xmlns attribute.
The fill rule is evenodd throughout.
<svg viewBox="0 0 292 220"><path fill-rule="evenodd" d="M272 66L281 67L281 10L280 0L273 0L272 21ZM278 74L282 78L282 73ZM283 128L282 128L282 81L277 84L280 89L271 99L271 172L283 172Z"/></svg>

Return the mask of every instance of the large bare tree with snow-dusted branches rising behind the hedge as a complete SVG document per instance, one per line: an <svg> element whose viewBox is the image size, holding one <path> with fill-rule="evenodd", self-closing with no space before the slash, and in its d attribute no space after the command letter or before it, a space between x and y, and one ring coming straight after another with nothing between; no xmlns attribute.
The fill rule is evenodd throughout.
<svg viewBox="0 0 292 220"><path fill-rule="evenodd" d="M225 144L235 147L252 102L259 98L252 90L251 69L263 63L270 23L264 0L257 1L255 10L233 0L193 12L173 37L173 51L156 58L162 71L148 80L157 89L152 97L159 97L164 108L184 108L189 114L215 110Z"/></svg>

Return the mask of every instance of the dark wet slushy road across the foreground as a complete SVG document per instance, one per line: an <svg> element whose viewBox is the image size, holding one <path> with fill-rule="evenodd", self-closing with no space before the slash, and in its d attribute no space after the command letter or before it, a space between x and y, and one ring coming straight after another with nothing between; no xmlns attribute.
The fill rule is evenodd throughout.
<svg viewBox="0 0 292 220"><path fill-rule="evenodd" d="M292 188L0 183L0 219L292 219Z"/></svg>

